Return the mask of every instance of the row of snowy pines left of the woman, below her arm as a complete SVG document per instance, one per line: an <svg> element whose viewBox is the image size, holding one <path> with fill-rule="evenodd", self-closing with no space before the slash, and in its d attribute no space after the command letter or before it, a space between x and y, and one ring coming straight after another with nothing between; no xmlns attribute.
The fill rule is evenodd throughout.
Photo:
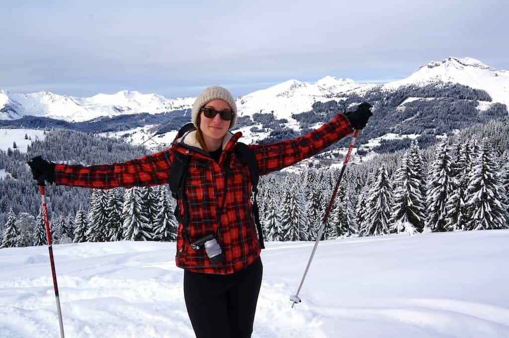
<svg viewBox="0 0 509 338"><path fill-rule="evenodd" d="M54 244L119 240L174 241L177 238L175 204L166 186L130 189L93 189L88 212L79 206L71 213L51 219ZM173 200L174 201L174 200ZM42 210L37 217L12 209L0 248L44 245L47 243Z"/></svg>

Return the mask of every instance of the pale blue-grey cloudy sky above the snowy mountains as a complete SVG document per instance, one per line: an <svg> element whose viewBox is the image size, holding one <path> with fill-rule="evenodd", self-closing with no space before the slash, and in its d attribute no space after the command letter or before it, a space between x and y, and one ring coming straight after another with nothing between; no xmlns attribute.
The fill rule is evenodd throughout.
<svg viewBox="0 0 509 338"><path fill-rule="evenodd" d="M449 56L509 69L506 1L2 1L0 89L235 96L385 82ZM504 28L505 26L505 28Z"/></svg>

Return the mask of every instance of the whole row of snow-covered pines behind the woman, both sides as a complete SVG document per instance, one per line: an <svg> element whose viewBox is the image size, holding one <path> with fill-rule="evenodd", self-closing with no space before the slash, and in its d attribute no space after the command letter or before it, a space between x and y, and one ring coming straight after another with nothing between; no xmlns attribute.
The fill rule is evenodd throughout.
<svg viewBox="0 0 509 338"><path fill-rule="evenodd" d="M509 229L509 161L488 142L470 137L433 147L427 166L416 141L390 164L350 171L331 208L322 239L391 233ZM429 155L428 155L429 156ZM498 158L498 160L497 160ZM355 168L355 166L353 166ZM309 167L300 174L262 177L259 206L264 238L316 240L339 170ZM93 189L88 212L51 221L54 243L172 241L176 201L167 187ZM47 244L44 221L10 210L1 247Z"/></svg>

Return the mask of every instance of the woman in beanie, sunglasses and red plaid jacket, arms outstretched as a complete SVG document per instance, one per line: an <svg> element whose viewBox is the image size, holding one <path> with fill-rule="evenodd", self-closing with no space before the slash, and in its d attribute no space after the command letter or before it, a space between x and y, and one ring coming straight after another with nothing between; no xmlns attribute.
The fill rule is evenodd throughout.
<svg viewBox="0 0 509 338"><path fill-rule="evenodd" d="M251 145L259 174L280 170L320 152L363 128L372 115L368 103L338 114L322 127L293 140ZM191 155L185 180L187 226L179 223L177 266L184 268L184 298L197 338L250 337L262 280L260 247L251 215L248 166L233 151L241 132L233 134L237 106L222 87L209 87L195 100L191 119L196 130L176 139L165 151L125 163L92 166L47 162L29 164L34 179L60 185L108 189L152 186L169 182L175 154ZM229 175L227 175L228 173ZM203 245L191 245L209 235L218 244L220 260ZM211 236L210 236L211 235ZM193 248L194 247L194 248Z"/></svg>

